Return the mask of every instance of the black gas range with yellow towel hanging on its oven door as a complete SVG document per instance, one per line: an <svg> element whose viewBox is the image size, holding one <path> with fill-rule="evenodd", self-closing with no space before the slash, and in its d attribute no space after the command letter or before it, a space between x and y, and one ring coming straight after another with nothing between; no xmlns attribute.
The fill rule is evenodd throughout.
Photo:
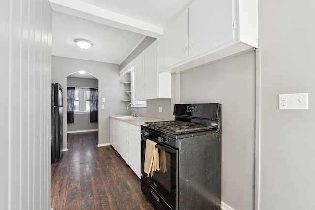
<svg viewBox="0 0 315 210"><path fill-rule="evenodd" d="M175 104L174 115L141 125L141 189L157 209L221 210L221 104ZM153 177L144 173L147 139L166 160Z"/></svg>

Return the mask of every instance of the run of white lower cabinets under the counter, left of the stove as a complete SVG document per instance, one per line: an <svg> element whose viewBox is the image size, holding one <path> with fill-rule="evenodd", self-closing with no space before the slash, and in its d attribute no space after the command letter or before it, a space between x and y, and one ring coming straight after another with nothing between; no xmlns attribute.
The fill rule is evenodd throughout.
<svg viewBox="0 0 315 210"><path fill-rule="evenodd" d="M140 127L126 122L110 119L110 143L130 166L134 173L141 177L141 133Z"/></svg>

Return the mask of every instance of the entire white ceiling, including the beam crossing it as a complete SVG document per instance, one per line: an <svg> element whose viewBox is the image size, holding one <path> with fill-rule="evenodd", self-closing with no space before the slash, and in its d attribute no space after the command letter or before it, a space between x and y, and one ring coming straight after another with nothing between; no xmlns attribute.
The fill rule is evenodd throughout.
<svg viewBox="0 0 315 210"><path fill-rule="evenodd" d="M121 64L146 37L192 0L49 0L53 9L52 55ZM75 39L93 42L80 49Z"/></svg>

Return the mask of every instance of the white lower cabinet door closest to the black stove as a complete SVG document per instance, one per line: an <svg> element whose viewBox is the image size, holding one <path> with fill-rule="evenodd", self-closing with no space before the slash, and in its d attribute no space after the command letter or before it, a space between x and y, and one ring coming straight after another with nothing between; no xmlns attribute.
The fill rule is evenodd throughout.
<svg viewBox="0 0 315 210"><path fill-rule="evenodd" d="M129 166L140 178L141 176L141 136L129 134Z"/></svg>

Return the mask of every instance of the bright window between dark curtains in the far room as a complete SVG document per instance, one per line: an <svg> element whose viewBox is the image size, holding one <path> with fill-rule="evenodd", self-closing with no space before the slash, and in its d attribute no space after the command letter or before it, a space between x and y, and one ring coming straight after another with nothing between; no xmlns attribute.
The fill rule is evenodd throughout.
<svg viewBox="0 0 315 210"><path fill-rule="evenodd" d="M90 111L90 89L75 88L74 112Z"/></svg>

